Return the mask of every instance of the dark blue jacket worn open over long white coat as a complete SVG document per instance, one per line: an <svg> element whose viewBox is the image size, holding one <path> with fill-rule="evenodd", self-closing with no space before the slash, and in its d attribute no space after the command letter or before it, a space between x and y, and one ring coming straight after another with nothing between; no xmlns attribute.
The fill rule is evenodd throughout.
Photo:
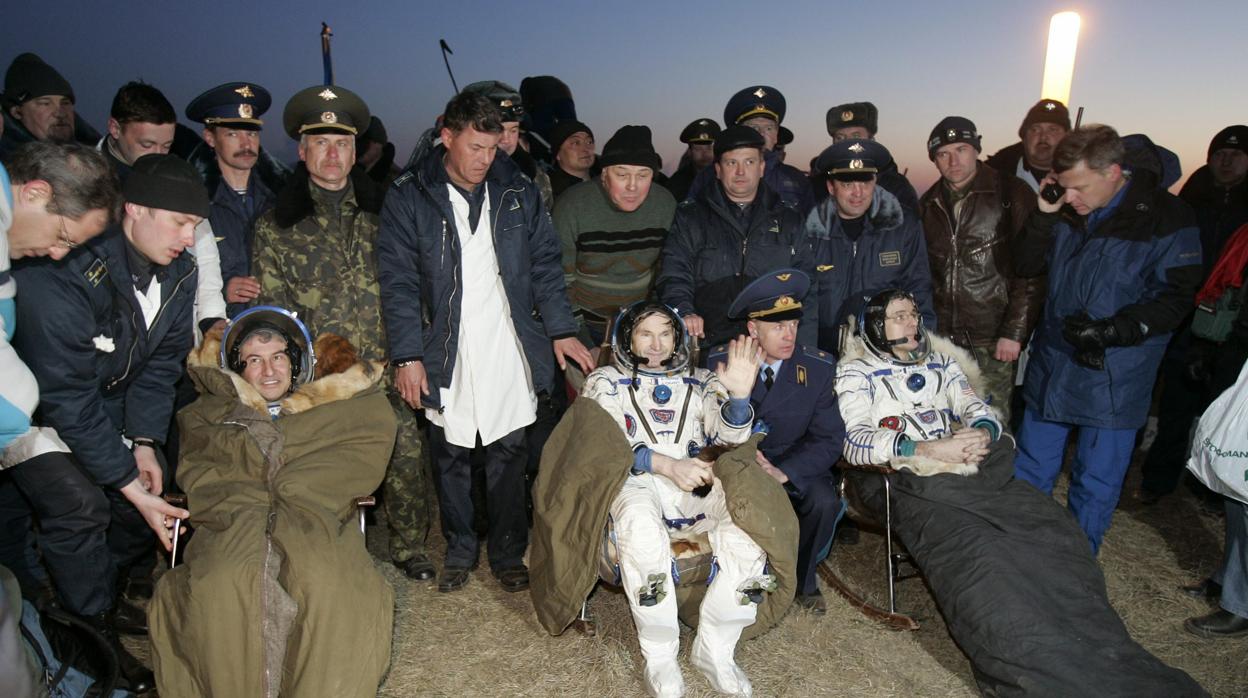
<svg viewBox="0 0 1248 698"><path fill-rule="evenodd" d="M429 382L427 407L441 410L459 353L463 267L459 236L437 146L403 172L386 195L377 237L382 318L393 361L421 360ZM559 238L537 185L502 151L489 185L489 227L534 390L554 383L552 340L577 333L563 280Z"/></svg>

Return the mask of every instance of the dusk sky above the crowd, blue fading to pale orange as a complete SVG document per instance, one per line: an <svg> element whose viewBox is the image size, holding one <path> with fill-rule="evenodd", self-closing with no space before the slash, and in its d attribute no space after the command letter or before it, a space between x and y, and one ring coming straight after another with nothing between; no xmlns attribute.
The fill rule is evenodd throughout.
<svg viewBox="0 0 1248 698"><path fill-rule="evenodd" d="M387 125L399 160L459 85L529 75L567 82L599 149L625 124L645 124L666 170L676 136L696 117L723 121L724 104L751 84L787 99L796 134L789 162L830 144L829 107L872 101L877 140L920 194L936 171L925 141L946 115L972 119L985 155L1017 141L1040 99L1052 14L1082 15L1071 112L1122 134L1144 132L1176 151L1184 176L1209 139L1248 122L1248 2L411 2L362 0L188 2L9 2L0 65L34 51L77 94L79 114L102 131L116 89L142 79L181 112L202 90L233 80L273 94L265 145L295 157L281 110L321 82L321 21L333 29L336 82ZM185 119L183 119L185 122Z"/></svg>

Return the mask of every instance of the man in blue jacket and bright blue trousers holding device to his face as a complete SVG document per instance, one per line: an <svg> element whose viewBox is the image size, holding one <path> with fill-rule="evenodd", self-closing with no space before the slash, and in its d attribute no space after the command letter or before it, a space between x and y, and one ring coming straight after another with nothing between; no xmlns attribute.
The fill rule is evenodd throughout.
<svg viewBox="0 0 1248 698"><path fill-rule="evenodd" d="M1062 139L1015 253L1018 275L1048 273L1015 471L1051 492L1066 437L1078 428L1067 501L1093 553L1118 503L1166 343L1201 280L1192 210L1152 172L1123 170L1123 156L1109 126Z"/></svg>

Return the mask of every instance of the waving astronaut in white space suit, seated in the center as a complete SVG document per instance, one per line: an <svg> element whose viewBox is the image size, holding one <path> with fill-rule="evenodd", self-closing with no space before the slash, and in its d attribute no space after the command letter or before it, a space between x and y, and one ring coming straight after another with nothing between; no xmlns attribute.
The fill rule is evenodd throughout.
<svg viewBox="0 0 1248 698"><path fill-rule="evenodd" d="M615 418L634 452L610 516L646 689L651 696L684 693L671 539L706 533L718 571L700 607L690 661L716 691L749 696L750 682L733 654L741 631L754 622L761 591L771 586L764 574L766 556L733 523L711 465L694 456L704 446L750 436L749 396L761 352L753 338L740 337L718 375L691 368L684 322L670 307L648 302L620 311L612 348L613 363L590 373L582 395Z"/></svg>

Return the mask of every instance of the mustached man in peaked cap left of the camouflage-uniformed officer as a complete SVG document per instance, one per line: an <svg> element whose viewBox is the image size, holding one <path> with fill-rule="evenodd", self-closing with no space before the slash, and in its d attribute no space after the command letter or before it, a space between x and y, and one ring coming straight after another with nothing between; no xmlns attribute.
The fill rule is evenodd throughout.
<svg viewBox="0 0 1248 698"><path fill-rule="evenodd" d="M260 295L251 273L253 231L261 214L273 207L273 191L285 176L260 147L265 125L260 117L271 104L268 90L260 85L226 82L186 106L186 117L203 124L203 142L213 155L203 159L202 174L212 199L208 221L217 237L230 317Z"/></svg>

